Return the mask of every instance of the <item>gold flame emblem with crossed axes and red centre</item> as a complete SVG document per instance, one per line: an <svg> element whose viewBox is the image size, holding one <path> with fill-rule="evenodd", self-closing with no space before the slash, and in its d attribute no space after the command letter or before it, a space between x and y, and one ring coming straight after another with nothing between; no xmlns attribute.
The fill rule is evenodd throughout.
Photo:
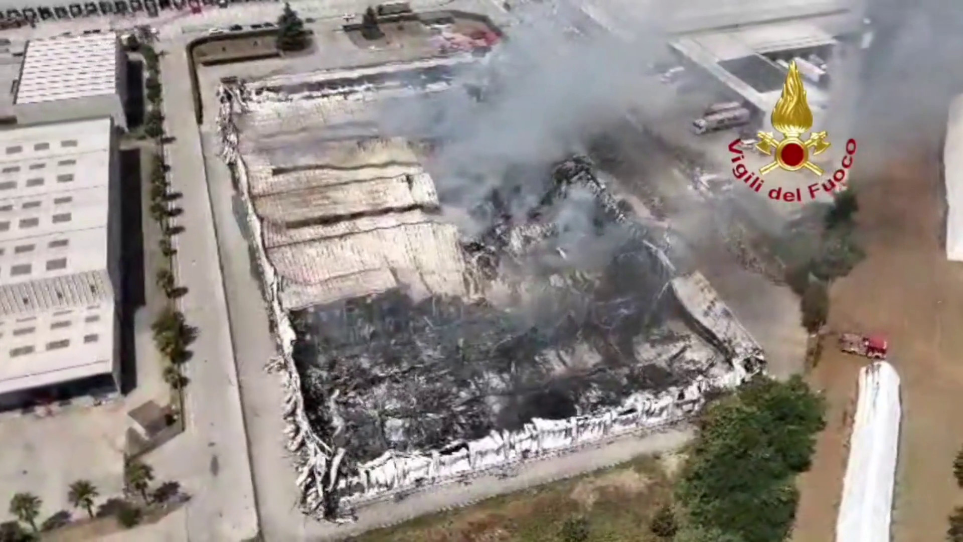
<svg viewBox="0 0 963 542"><path fill-rule="evenodd" d="M822 175L822 168L812 163L810 156L816 156L829 149L826 132L814 132L809 139L803 141L800 136L813 127L813 111L806 100L806 88L802 86L802 77L795 61L789 65L783 92L772 110L772 127L783 135L781 141L776 140L770 132L759 132L759 143L756 149L772 156L771 163L759 169L760 175L766 175L776 168L794 172L806 168L816 175Z"/></svg>

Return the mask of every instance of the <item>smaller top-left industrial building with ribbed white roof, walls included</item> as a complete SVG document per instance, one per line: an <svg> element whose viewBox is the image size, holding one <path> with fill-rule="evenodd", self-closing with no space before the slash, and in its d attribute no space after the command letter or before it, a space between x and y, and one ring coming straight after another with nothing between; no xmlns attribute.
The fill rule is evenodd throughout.
<svg viewBox="0 0 963 542"><path fill-rule="evenodd" d="M113 32L28 41L13 91L17 123L111 117L126 129L126 67Z"/></svg>

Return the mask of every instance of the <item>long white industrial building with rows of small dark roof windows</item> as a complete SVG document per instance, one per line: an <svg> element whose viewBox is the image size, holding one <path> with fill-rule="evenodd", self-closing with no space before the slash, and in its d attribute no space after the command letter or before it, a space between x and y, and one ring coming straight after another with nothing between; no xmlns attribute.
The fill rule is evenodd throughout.
<svg viewBox="0 0 963 542"><path fill-rule="evenodd" d="M110 117L0 131L0 405L116 391Z"/></svg>

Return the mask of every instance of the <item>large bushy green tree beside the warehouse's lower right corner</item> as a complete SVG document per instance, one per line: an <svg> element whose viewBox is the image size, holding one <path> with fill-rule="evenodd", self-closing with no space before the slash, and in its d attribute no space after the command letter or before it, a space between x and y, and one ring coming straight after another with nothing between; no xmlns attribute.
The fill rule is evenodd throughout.
<svg viewBox="0 0 963 542"><path fill-rule="evenodd" d="M711 403L676 487L689 527L718 528L742 542L783 540L824 426L822 399L799 376L760 376Z"/></svg>

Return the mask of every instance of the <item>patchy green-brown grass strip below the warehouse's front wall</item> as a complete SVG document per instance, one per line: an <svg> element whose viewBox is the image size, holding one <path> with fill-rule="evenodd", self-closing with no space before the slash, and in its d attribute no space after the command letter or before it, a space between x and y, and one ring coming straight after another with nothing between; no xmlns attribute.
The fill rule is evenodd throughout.
<svg viewBox="0 0 963 542"><path fill-rule="evenodd" d="M649 519L671 498L678 455L642 456L452 512L366 533L357 542L560 542L569 518L585 517L586 542L655 542Z"/></svg>

